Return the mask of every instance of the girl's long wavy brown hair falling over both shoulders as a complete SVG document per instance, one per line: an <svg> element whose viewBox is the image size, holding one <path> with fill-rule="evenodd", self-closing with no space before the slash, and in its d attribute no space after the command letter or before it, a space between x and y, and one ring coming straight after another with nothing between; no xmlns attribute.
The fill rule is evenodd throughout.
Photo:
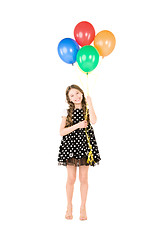
<svg viewBox="0 0 164 240"><path fill-rule="evenodd" d="M83 90L75 84L68 86L67 89L66 89L66 100L67 100L67 103L69 105L69 108L67 110L68 115L67 115L67 118L66 118L66 127L70 127L70 126L73 125L72 114L73 114L73 110L75 109L75 104L70 101L69 96L68 96L68 93L71 89L77 89L83 94L81 105L82 105L84 117L86 115L86 108L87 108L87 104L86 104L86 100L85 100ZM87 122L88 122L88 124L90 122L88 109L87 109Z"/></svg>

